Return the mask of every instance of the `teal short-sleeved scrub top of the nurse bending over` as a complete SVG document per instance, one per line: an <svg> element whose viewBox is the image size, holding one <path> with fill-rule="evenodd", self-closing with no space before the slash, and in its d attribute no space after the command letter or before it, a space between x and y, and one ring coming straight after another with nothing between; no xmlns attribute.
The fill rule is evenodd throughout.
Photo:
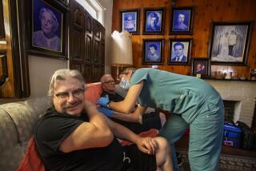
<svg viewBox="0 0 256 171"><path fill-rule="evenodd" d="M216 89L200 78L142 68L132 75L130 86L139 82L143 82L138 97L141 105L180 114L187 122L207 110L206 101L218 105L222 100Z"/></svg>

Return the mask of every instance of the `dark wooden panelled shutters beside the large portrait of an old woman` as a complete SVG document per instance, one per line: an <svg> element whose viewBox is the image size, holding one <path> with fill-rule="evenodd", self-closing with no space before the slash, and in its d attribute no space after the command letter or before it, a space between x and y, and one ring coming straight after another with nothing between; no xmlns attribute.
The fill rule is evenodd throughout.
<svg viewBox="0 0 256 171"><path fill-rule="evenodd" d="M70 69L86 82L99 82L105 66L105 28L76 1L70 1Z"/></svg>

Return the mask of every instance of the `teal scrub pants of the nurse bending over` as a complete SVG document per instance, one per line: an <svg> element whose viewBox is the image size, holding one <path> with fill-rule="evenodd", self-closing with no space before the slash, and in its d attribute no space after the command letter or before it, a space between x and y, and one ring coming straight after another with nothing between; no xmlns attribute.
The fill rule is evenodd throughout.
<svg viewBox="0 0 256 171"><path fill-rule="evenodd" d="M203 113L191 123L187 123L182 115L171 114L160 130L159 136L166 137L172 148L174 170L178 170L174 142L178 141L187 127L190 127L189 161L192 171L218 170L219 157L222 149L224 125L224 106L206 102ZM202 111L202 110L201 110Z"/></svg>

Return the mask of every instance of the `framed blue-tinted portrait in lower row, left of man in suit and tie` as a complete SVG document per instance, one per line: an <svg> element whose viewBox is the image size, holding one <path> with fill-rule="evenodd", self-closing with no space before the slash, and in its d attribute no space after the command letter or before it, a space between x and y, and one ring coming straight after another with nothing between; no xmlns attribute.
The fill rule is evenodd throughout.
<svg viewBox="0 0 256 171"><path fill-rule="evenodd" d="M142 64L162 64L164 39L143 39Z"/></svg>

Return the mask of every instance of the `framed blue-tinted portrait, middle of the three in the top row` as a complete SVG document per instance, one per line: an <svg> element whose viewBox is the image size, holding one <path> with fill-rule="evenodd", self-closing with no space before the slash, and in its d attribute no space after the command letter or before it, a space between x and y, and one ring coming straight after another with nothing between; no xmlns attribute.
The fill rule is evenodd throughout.
<svg viewBox="0 0 256 171"><path fill-rule="evenodd" d="M164 34L166 8L145 8L143 34Z"/></svg>

